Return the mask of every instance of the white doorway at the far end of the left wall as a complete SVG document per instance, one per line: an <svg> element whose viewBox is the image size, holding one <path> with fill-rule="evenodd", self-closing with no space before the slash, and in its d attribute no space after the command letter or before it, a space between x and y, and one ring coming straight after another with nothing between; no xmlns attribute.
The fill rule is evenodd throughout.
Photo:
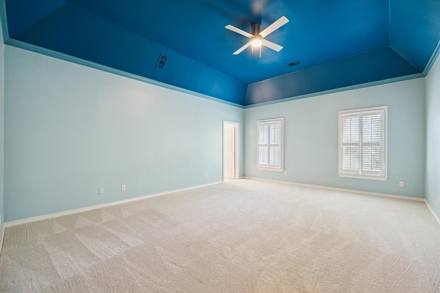
<svg viewBox="0 0 440 293"><path fill-rule="evenodd" d="M239 178L239 124L223 121L223 179Z"/></svg>

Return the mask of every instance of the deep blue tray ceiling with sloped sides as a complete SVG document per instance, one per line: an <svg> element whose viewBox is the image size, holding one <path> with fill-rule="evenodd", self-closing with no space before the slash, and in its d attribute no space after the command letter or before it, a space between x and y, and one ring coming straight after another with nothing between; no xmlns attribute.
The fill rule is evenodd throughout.
<svg viewBox="0 0 440 293"><path fill-rule="evenodd" d="M440 39L438 0L1 1L6 43L242 106L420 76ZM249 39L225 25L264 30L283 15L289 23L266 37L281 51L232 55ZM163 69L160 54L168 57Z"/></svg>

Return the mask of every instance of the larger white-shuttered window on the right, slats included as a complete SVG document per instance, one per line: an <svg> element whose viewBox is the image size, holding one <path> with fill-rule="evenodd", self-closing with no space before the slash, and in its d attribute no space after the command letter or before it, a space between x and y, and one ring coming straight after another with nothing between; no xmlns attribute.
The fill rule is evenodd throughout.
<svg viewBox="0 0 440 293"><path fill-rule="evenodd" d="M339 111L341 177L386 180L388 106Z"/></svg>

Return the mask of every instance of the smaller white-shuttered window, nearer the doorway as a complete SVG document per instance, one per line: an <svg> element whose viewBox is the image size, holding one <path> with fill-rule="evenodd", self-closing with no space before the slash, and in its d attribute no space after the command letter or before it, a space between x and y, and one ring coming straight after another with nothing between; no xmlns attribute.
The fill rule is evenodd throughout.
<svg viewBox="0 0 440 293"><path fill-rule="evenodd" d="M257 122L257 169L283 171L283 124L284 118Z"/></svg>

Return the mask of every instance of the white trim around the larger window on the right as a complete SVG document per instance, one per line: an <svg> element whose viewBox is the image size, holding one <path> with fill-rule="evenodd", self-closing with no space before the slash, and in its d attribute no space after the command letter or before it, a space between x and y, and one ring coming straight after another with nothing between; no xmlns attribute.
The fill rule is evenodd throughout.
<svg viewBox="0 0 440 293"><path fill-rule="evenodd" d="M359 152L359 170L358 172L346 172L342 169L342 117L353 115L360 119L369 113L382 113L382 169L380 174L372 174L371 172L362 172L362 131L360 130L360 152ZM338 111L338 175L340 177L361 178L370 180L386 180L388 179L388 106L377 106L370 108L360 108L353 110Z"/></svg>

